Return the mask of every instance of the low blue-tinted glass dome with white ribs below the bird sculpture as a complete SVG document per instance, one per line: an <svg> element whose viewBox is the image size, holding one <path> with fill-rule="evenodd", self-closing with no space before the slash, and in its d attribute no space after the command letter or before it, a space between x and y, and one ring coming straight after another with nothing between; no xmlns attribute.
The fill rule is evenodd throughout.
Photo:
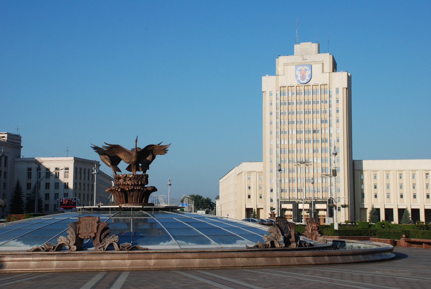
<svg viewBox="0 0 431 289"><path fill-rule="evenodd" d="M0 250L25 250L67 236L68 223L81 216L109 223L119 243L150 249L245 247L263 241L268 227L182 211L81 211L0 224ZM84 250L93 240L84 240Z"/></svg>

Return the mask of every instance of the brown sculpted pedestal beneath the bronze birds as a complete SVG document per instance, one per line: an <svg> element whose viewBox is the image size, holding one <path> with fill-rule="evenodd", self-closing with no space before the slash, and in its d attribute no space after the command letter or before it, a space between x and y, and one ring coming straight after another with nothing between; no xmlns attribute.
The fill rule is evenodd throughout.
<svg viewBox="0 0 431 289"><path fill-rule="evenodd" d="M106 193L111 193L115 198L117 206L148 206L151 193L157 192L155 186L145 186L148 184L147 174L116 174L114 184L106 189Z"/></svg>

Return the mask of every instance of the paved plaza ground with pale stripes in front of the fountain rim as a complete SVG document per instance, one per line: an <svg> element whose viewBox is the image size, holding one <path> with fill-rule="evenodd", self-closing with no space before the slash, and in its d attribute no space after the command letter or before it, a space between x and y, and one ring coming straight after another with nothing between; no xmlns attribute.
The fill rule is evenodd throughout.
<svg viewBox="0 0 431 289"><path fill-rule="evenodd" d="M397 259L334 266L229 270L0 273L2 289L431 289L431 250L395 247Z"/></svg>

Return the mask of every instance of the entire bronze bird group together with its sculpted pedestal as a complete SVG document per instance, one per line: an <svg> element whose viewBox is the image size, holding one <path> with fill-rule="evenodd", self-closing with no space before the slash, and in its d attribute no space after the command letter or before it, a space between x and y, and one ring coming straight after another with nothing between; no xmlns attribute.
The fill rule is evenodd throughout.
<svg viewBox="0 0 431 289"><path fill-rule="evenodd" d="M113 205L119 206L154 206L153 203L148 202L151 193L157 191L155 186L145 186L148 184L147 170L150 164L156 158L156 155L166 155L169 145L148 145L141 149L137 146L137 137L135 140L134 149L125 149L120 145L112 145L105 143L106 146L92 145L99 155L102 162L109 166L114 172L115 186L106 189L107 193L111 193L116 203ZM121 170L117 167L121 161L129 164L126 168L132 174L117 174ZM142 171L142 174L136 174L137 171Z"/></svg>

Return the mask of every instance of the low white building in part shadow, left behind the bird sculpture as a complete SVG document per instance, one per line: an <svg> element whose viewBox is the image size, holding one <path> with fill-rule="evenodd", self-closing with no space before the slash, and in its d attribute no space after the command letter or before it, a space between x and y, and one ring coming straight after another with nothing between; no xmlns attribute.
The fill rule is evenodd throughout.
<svg viewBox="0 0 431 289"><path fill-rule="evenodd" d="M35 163L40 161L41 169ZM100 168L100 162L84 158L15 158L15 179L22 184L25 199L39 181L38 192L44 200L44 213L58 213L57 200L59 198L76 197L77 205L94 205L94 166ZM52 174L52 175L51 175ZM96 204L109 204L110 194L105 190L112 186L114 179L99 170L96 177Z"/></svg>

